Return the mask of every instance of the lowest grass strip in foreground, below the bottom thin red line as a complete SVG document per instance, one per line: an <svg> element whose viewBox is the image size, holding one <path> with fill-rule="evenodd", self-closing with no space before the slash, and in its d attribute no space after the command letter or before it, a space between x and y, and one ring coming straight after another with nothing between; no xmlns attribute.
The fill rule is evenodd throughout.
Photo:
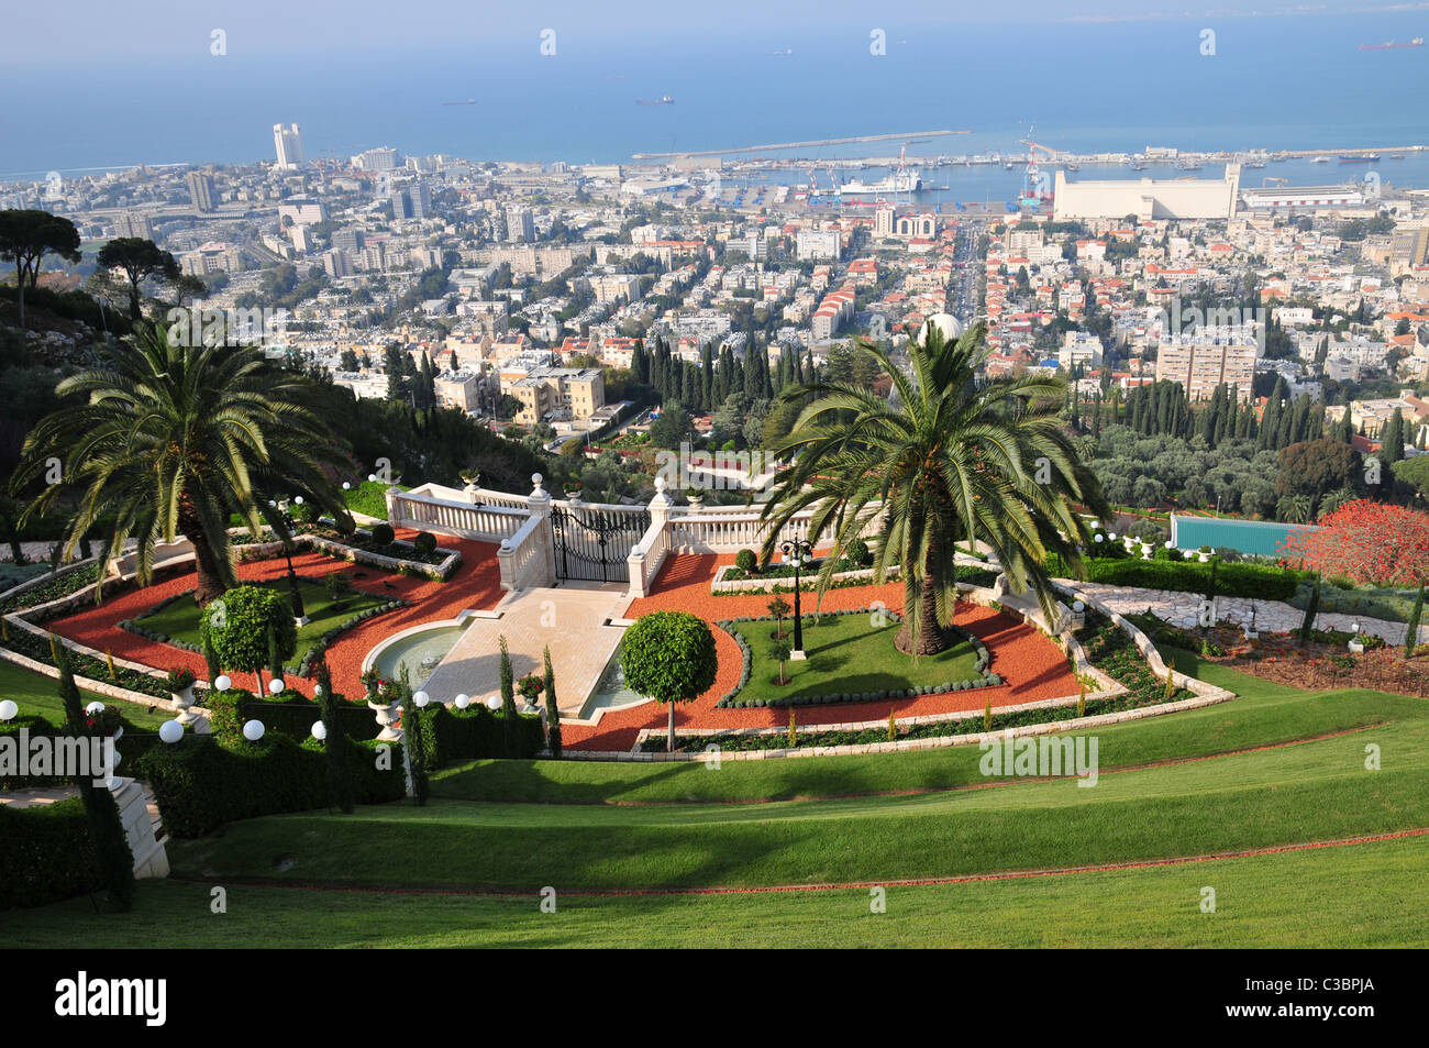
<svg viewBox="0 0 1429 1048"><path fill-rule="evenodd" d="M1019 881L760 895L319 892L141 881L130 914L87 898L4 914L16 948L104 946L1423 946L1429 838ZM1200 912L1200 889L1216 912ZM393 906L400 919L393 918ZM196 914L174 921L174 914Z"/></svg>

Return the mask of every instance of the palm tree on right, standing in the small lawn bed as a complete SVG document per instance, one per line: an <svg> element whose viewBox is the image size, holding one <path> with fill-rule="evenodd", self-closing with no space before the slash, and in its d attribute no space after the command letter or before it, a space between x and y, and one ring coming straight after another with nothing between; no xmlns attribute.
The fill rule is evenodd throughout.
<svg viewBox="0 0 1429 1048"><path fill-rule="evenodd" d="M979 325L945 342L929 325L922 345L909 343L910 373L856 340L892 376L887 402L865 386L822 380L782 395L813 400L773 449L797 458L775 478L765 506L765 558L795 513L813 506L810 542L833 545L819 573L822 596L839 555L882 515L875 580L903 566L907 615L895 643L915 656L947 646L942 623L950 622L956 599L956 543L986 543L1013 592L1030 586L1050 615L1049 555L1080 573L1079 543L1090 538L1073 502L1097 516L1107 512L1059 419L1065 383L1037 376L979 382L985 332Z"/></svg>

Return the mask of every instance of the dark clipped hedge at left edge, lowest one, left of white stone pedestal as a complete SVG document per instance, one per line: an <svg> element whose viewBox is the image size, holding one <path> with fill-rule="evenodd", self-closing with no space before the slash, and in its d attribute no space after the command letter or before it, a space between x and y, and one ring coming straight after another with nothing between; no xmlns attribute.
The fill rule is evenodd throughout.
<svg viewBox="0 0 1429 1048"><path fill-rule="evenodd" d="M0 805L0 912L103 886L80 798L20 809Z"/></svg>

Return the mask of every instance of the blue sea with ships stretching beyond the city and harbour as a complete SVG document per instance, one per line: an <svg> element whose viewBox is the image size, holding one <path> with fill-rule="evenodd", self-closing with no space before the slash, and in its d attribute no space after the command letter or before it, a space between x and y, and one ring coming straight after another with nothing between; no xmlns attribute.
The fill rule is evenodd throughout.
<svg viewBox="0 0 1429 1048"><path fill-rule="evenodd" d="M420 51L314 49L302 61L230 41L161 60L0 70L0 182L147 164L273 157L273 124L299 123L310 160L376 146L472 160L624 163L633 153L803 146L779 180L827 180L836 157L997 152L1015 170L925 172L939 202L1015 196L1030 137L1077 153L1316 150L1329 163L1272 163L1242 184L1362 177L1339 150L1429 146L1429 47L1360 44L1429 36L1429 10L1025 24L712 24L526 37L446 39ZM439 30L439 27L434 27ZM882 50L879 36L882 33ZM121 74L120 74L121 70ZM669 96L670 104L639 104ZM464 104L467 99L472 104ZM463 104L443 104L463 103ZM966 130L923 139L917 133ZM1429 152L1375 164L1389 186L1429 187ZM859 172L876 179L882 170ZM842 173L840 173L842 174ZM1169 177L1083 164L1069 177ZM1199 177L1218 177L1208 164ZM925 193L927 197L927 193Z"/></svg>

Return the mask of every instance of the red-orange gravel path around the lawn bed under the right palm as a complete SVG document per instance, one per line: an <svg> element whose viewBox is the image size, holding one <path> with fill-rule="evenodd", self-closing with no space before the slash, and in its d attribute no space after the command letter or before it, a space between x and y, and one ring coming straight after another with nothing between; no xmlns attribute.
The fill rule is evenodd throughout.
<svg viewBox="0 0 1429 1048"><path fill-rule="evenodd" d="M714 572L735 562L733 553L677 555L666 560L650 596L633 600L626 618L636 619L654 610L686 610L707 622L740 615L767 615L769 593L714 596L710 580ZM792 596L785 596L792 600ZM903 585L899 582L882 586L850 586L830 589L823 599L825 610L867 608L882 600L892 610L903 609ZM810 599L806 613L813 608ZM892 709L897 718L929 713L950 713L980 711L992 699L993 706L1012 706L1022 702L1076 695L1079 685L1067 665L1066 655L1025 625L1020 618L995 612L972 603L959 603L955 622L980 638L992 649L992 669L1000 673L1005 683L997 688L979 688L967 692L945 695L920 695L912 699L885 699L879 702L840 702L826 706L800 706L799 723L849 723L853 721L885 719ZM729 709L714 703L739 679L743 655L735 641L722 629L714 631L714 648L719 655L719 675L714 686L694 702L677 706L676 728L777 728L789 723L789 711L779 708ZM602 716L594 726L562 725L562 738L570 749L630 749L642 728L666 725L666 709L654 702L627 709L617 709Z"/></svg>

